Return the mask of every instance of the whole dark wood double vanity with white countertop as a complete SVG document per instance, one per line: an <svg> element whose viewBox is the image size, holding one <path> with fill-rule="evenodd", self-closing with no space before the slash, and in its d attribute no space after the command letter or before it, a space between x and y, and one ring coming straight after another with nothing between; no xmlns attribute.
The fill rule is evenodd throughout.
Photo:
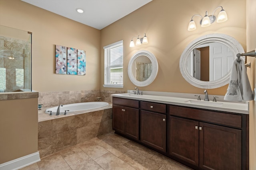
<svg viewBox="0 0 256 170"><path fill-rule="evenodd" d="M112 97L117 134L196 170L248 169L246 104L128 93Z"/></svg>

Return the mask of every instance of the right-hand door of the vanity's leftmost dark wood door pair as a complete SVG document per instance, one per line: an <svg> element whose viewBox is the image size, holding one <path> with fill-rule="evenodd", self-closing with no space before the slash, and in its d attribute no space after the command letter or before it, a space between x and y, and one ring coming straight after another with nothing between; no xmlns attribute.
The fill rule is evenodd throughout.
<svg viewBox="0 0 256 170"><path fill-rule="evenodd" d="M124 107L124 134L139 140L139 109Z"/></svg>

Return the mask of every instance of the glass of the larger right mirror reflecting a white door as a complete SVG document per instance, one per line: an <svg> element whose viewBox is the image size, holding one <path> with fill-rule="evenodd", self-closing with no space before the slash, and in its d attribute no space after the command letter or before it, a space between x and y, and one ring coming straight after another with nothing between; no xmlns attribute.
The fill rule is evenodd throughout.
<svg viewBox="0 0 256 170"><path fill-rule="evenodd" d="M211 42L199 45L188 57L188 72L201 81L214 81L225 76L232 67L234 53L224 44Z"/></svg>

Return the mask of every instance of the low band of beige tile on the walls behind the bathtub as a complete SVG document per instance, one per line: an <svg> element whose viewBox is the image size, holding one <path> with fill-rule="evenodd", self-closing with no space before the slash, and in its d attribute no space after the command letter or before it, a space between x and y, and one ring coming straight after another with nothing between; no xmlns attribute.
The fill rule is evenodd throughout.
<svg viewBox="0 0 256 170"><path fill-rule="evenodd" d="M60 104L73 104L82 102L96 102L101 97L103 102L112 102L111 94L125 93L124 90L80 90L66 92L39 92L38 104L43 107L54 107Z"/></svg>

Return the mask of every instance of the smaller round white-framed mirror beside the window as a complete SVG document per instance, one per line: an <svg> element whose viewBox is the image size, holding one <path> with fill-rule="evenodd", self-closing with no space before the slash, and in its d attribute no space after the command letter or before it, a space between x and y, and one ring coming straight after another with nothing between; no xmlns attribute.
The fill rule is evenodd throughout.
<svg viewBox="0 0 256 170"><path fill-rule="evenodd" d="M128 76L136 86L148 86L155 80L157 72L156 57L149 51L138 51L129 61Z"/></svg>

